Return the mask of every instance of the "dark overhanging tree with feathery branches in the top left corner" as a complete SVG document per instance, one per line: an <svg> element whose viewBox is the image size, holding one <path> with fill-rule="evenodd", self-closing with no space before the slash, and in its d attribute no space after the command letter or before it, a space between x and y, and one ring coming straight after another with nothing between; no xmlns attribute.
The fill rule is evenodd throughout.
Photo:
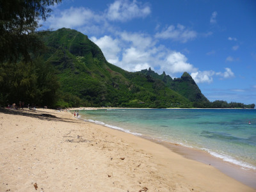
<svg viewBox="0 0 256 192"><path fill-rule="evenodd" d="M29 61L29 52L43 44L35 33L38 21L52 11L49 6L61 0L0 0L0 63Z"/></svg>

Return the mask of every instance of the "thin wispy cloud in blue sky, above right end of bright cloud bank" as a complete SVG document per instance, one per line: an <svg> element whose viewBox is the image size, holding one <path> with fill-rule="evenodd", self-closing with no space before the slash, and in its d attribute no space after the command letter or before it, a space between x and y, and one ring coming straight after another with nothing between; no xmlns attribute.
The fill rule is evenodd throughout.
<svg viewBox="0 0 256 192"><path fill-rule="evenodd" d="M196 38L196 31L186 29L184 26L178 24L177 27L169 26L160 33L156 33L156 38L172 39L182 43L186 43L188 40Z"/></svg>

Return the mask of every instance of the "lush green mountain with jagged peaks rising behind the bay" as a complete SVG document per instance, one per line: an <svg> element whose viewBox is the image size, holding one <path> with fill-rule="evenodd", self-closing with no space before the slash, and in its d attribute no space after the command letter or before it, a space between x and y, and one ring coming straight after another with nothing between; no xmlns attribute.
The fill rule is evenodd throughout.
<svg viewBox="0 0 256 192"><path fill-rule="evenodd" d="M208 100L188 73L172 79L150 68L127 72L106 61L88 36L72 29L42 33L47 47L42 58L60 82L60 106L191 108Z"/></svg>

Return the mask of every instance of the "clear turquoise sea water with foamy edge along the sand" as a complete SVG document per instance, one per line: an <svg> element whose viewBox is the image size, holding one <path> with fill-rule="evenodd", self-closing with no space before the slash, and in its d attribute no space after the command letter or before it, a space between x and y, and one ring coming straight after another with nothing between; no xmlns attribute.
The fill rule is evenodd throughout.
<svg viewBox="0 0 256 192"><path fill-rule="evenodd" d="M256 170L255 109L98 109L79 115L88 122L205 150Z"/></svg>

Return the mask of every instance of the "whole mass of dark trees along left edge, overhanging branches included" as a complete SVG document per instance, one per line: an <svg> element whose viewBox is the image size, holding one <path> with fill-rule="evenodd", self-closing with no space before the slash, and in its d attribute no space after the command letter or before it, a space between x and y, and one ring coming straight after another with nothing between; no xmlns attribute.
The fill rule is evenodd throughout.
<svg viewBox="0 0 256 192"><path fill-rule="evenodd" d="M0 106L19 102L53 106L60 88L54 68L38 57L40 19L61 0L0 1Z"/></svg>

